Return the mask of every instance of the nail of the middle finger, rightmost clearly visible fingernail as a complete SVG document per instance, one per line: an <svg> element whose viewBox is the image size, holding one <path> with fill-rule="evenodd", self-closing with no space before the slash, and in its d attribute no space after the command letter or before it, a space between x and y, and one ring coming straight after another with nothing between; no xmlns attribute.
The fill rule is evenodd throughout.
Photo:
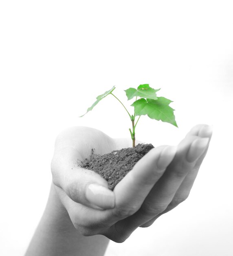
<svg viewBox="0 0 233 256"><path fill-rule="evenodd" d="M189 163L196 161L200 157L200 155L204 153L204 150L207 147L208 143L209 138L201 138L193 141L187 153L186 160Z"/></svg>

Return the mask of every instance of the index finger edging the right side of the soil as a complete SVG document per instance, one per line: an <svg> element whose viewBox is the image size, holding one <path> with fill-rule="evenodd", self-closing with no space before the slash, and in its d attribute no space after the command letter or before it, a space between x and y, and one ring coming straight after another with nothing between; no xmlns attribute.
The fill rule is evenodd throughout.
<svg viewBox="0 0 233 256"><path fill-rule="evenodd" d="M152 148L134 166L132 171L114 188L116 207L112 215L117 220L135 213L154 184L163 175L176 153L176 147L160 146Z"/></svg>

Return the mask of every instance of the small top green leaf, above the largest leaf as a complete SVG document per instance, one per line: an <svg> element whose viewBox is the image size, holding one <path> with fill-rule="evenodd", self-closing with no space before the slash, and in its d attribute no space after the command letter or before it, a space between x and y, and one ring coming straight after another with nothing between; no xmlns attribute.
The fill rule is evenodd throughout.
<svg viewBox="0 0 233 256"><path fill-rule="evenodd" d="M126 96L128 100L133 99L134 97L141 97L146 99L158 99L156 96L156 92L160 89L155 90L149 87L149 84L139 85L137 89L129 88L125 90Z"/></svg>

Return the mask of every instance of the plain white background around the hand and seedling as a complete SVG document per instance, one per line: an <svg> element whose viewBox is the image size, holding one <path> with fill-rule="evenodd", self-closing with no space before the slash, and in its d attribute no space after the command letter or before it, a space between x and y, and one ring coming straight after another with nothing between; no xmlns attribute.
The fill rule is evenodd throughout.
<svg viewBox="0 0 233 256"><path fill-rule="evenodd" d="M57 134L91 126L128 137L109 96L149 83L173 100L179 128L141 117L137 139L178 144L196 124L214 132L189 198L106 256L230 256L232 1L0 2L0 255L22 256L46 204ZM129 105L127 105L129 106Z"/></svg>

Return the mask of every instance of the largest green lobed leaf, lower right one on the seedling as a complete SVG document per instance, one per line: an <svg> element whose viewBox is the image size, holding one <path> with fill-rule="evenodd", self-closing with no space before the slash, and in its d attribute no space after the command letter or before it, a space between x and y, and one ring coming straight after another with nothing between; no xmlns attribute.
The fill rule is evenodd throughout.
<svg viewBox="0 0 233 256"><path fill-rule="evenodd" d="M173 113L174 109L169 106L171 102L173 101L164 97L158 97L157 100L138 99L131 106L134 107L136 116L147 115L152 119L161 120L178 127Z"/></svg>

